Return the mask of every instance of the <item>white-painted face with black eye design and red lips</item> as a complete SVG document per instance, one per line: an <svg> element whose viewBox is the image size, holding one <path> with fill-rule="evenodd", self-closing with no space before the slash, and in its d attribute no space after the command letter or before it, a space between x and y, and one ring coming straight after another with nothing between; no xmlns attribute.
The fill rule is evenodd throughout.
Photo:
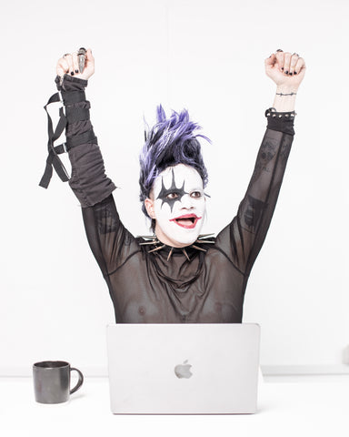
<svg viewBox="0 0 349 437"><path fill-rule="evenodd" d="M157 238L177 248L193 244L206 207L199 173L184 164L166 168L155 179L153 194Z"/></svg>

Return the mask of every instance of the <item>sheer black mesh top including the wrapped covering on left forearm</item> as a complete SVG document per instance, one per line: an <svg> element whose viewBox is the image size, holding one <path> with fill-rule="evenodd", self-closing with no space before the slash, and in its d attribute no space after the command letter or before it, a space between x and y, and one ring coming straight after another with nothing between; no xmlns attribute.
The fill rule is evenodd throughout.
<svg viewBox="0 0 349 437"><path fill-rule="evenodd" d="M58 87L65 99L86 85L85 80L65 76ZM67 138L92 130L89 119L74 116L81 108L89 108L89 103L67 105ZM294 137L294 113L266 115L268 127L236 217L215 239L202 239L184 250L165 246L150 251L163 244L150 240L142 245L147 239L125 229L96 140L69 150L69 184L83 207L87 239L108 285L116 322L242 321L247 279L273 216Z"/></svg>

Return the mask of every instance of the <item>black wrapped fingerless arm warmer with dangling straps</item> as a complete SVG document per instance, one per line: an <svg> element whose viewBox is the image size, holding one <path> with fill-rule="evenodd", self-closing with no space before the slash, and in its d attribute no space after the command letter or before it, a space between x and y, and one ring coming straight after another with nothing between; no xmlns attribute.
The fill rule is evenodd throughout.
<svg viewBox="0 0 349 437"><path fill-rule="evenodd" d="M48 104L59 101L62 97L65 110L60 109L60 121L55 132L52 129L51 118L48 116L49 154L40 186L47 188L53 166L56 171L58 169L58 176L66 175L61 179L69 180L69 185L81 206L91 207L107 198L115 189L115 185L105 175L104 161L90 122L90 103L85 99L87 81L65 75L63 81L57 76L55 82L59 93L51 97ZM64 129L65 143L54 147L55 139ZM58 155L65 151L68 152L72 164L71 178L67 177L63 163L58 158Z"/></svg>

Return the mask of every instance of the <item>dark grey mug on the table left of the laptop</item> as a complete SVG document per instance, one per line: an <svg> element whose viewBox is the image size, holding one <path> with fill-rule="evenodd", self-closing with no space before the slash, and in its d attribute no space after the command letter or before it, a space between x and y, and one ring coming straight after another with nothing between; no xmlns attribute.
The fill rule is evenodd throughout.
<svg viewBox="0 0 349 437"><path fill-rule="evenodd" d="M70 390L70 372L77 371L79 381ZM84 382L81 371L70 367L66 361L41 361L33 365L35 401L40 403L61 403L79 390Z"/></svg>

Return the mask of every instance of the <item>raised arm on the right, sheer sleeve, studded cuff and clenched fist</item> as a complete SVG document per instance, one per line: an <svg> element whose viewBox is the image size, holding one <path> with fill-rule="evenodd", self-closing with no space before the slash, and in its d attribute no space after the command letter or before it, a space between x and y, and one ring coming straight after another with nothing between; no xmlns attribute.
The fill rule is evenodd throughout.
<svg viewBox="0 0 349 437"><path fill-rule="evenodd" d="M265 111L267 129L236 217L216 239L217 248L246 277L264 243L284 178L294 139L294 102L304 78L304 59L277 51L265 60L265 72L276 84L274 107Z"/></svg>

